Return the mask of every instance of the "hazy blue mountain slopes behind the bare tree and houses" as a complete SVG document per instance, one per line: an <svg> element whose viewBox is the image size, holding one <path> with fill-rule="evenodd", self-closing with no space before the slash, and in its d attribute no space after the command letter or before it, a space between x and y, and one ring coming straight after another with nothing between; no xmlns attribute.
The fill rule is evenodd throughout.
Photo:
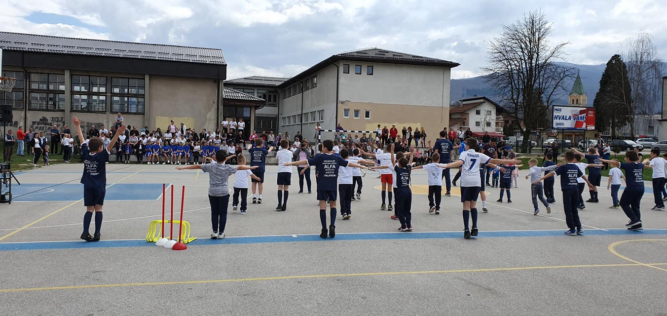
<svg viewBox="0 0 667 316"><path fill-rule="evenodd" d="M604 72L606 64L601 63L600 65L578 65L576 63L560 63L566 66L572 66L579 69L579 75L582 77L582 84L584 85L584 92L588 96L588 106L593 106L593 100L595 99L595 94L598 93L600 88L600 77ZM664 69L667 69L667 63L664 63ZM556 101L557 105L566 105L568 104L568 94L572 89L574 80L570 80L565 84L567 92L562 94L561 98ZM494 93L491 91L490 86L484 82L484 77L471 77L465 79L452 79L452 86L450 90L450 100L452 102L456 100L472 98L474 96L486 96L491 100L498 100L494 96ZM656 102L656 113L660 112L660 102Z"/></svg>

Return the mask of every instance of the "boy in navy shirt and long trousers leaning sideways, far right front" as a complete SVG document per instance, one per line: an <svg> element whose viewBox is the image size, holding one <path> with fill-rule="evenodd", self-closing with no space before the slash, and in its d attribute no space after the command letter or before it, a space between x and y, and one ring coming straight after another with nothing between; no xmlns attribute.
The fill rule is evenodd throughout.
<svg viewBox="0 0 667 316"><path fill-rule="evenodd" d="M621 208L630 221L626 224L629 230L642 230L642 214L639 210L642 196L644 196L644 164L640 162L637 152L626 152L626 162L600 159L610 166L620 166L626 173L626 188L621 194Z"/></svg>

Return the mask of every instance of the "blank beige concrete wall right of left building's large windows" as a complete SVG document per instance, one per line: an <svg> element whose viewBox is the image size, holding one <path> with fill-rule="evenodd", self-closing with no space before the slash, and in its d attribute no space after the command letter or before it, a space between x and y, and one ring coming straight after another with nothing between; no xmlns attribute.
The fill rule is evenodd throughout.
<svg viewBox="0 0 667 316"><path fill-rule="evenodd" d="M149 128L164 130L169 120L179 126L207 130L217 126L217 83L210 79L151 75L149 81Z"/></svg>

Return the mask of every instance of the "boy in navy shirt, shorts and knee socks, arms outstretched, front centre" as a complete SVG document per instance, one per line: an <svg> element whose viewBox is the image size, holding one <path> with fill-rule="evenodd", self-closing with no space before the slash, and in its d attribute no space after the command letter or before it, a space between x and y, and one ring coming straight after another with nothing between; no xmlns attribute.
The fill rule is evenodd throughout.
<svg viewBox="0 0 667 316"><path fill-rule="evenodd" d="M261 139L257 141L261 142ZM348 162L348 160L341 158L341 156L332 154L331 150L333 150L333 141L324 140L322 142L323 154L317 154L313 158L283 164L283 166L297 166L299 164L315 166L315 174L317 174L317 200L319 200L319 221L322 224L322 231L319 234L321 238L327 238L327 202L329 202L329 215L331 216L328 235L331 238L336 236L336 198L338 198L338 194L336 194L336 186L338 186L338 167L351 166L354 168L366 169L366 166Z"/></svg>

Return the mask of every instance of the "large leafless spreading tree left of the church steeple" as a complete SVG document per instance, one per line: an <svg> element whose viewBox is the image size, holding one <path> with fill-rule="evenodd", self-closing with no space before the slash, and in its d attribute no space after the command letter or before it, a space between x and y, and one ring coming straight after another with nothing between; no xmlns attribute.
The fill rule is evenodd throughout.
<svg viewBox="0 0 667 316"><path fill-rule="evenodd" d="M549 109L562 94L564 82L574 79L574 67L556 64L565 61L564 47L551 46L552 25L541 11L524 13L511 25L503 25L487 51L488 65L482 70L496 98L514 117L514 126L524 140L530 133L551 124ZM523 124L522 124L523 123ZM529 142L523 142L526 152Z"/></svg>

